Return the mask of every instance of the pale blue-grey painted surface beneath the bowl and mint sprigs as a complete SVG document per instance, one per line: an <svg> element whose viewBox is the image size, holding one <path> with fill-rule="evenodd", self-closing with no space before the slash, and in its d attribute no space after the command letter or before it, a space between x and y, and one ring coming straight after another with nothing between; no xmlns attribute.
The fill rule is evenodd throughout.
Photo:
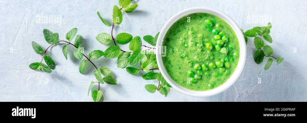
<svg viewBox="0 0 307 123"><path fill-rule="evenodd" d="M226 91L212 97L197 98L171 89L168 97L149 93L144 85L157 81L143 80L141 74L130 75L126 69L117 68L117 59L93 60L97 66L106 66L119 79L118 85L102 85L105 101L307 101L307 2L295 1L246 1L246 0L135 0L137 9L123 13L123 21L114 29L114 36L127 32L133 36L155 35L165 22L181 10L206 6L219 9L229 15L245 31L255 26L266 26L259 18L268 16L272 22L270 35L273 56L285 60L264 70L264 63L253 60L255 46L252 39L247 44L247 61L239 79ZM94 67L88 62L84 74L78 71L81 60L73 56L74 47L68 47L68 60L62 53L64 43L47 51L56 63L52 73L29 69L29 64L39 62L31 42L37 42L44 50L46 43L42 30L58 32L60 39L72 28L82 35L85 53L106 50L113 45L102 45L96 39L101 32L111 32L102 24L97 11L111 22L112 9L117 0L0 0L0 101L92 101L87 89L92 80ZM37 16L58 15L61 24L37 21ZM66 39L65 39L66 40ZM147 44L143 41L143 44ZM121 46L128 50L128 45ZM142 72L143 73L143 72ZM258 83L261 78L261 83ZM94 88L98 88L98 85Z"/></svg>

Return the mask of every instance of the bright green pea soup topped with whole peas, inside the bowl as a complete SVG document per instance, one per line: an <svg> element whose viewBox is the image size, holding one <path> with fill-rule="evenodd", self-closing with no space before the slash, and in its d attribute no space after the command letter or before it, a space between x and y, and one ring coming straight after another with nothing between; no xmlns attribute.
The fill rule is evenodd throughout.
<svg viewBox="0 0 307 123"><path fill-rule="evenodd" d="M220 17L192 13L176 21L166 33L163 65L180 86L206 91L225 83L239 61L239 41Z"/></svg>

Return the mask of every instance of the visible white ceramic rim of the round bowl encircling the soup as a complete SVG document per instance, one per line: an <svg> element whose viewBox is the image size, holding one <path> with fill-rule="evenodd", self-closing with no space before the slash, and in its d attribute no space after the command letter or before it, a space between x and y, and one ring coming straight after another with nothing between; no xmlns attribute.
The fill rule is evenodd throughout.
<svg viewBox="0 0 307 123"><path fill-rule="evenodd" d="M181 87L179 84L177 84L170 76L169 74L166 72L165 67L162 63L162 55L161 55L161 45L163 42L163 39L165 37L166 32L169 30L169 28L173 25L173 23L175 23L178 19L180 19L181 17L184 17L185 15L191 14L191 13L209 13L209 14L213 14L217 17L222 18L224 21L226 21L231 28L235 31L235 34L237 35L238 39L239 39L239 44L240 44L240 58L239 58L239 63L237 68L235 69L234 73L231 75L231 77L221 86L208 90L208 91L192 91L192 90L188 90L184 87ZM245 40L244 40L244 36L239 28L239 26L235 23L235 21L233 21L228 15L226 15L225 13L216 10L216 9L212 9L212 8L208 8L208 7L193 7L193 8L189 8L189 9L185 9L179 13L177 13L176 15L174 15L173 17L171 17L169 19L169 21L166 22L166 24L163 26L163 28L161 29L160 35L158 36L157 39L157 45L156 45L156 57L157 57L157 63L160 69L160 72L162 74L162 76L165 78L165 80L176 90L180 91L181 93L184 93L186 95L190 95L190 96L195 96L195 97L207 97L207 96L212 96L212 95L216 95L220 92L225 91L227 88L229 88L240 76L244 64L245 64L245 59L246 59L246 45L245 45ZM167 49L166 49L167 50ZM167 55L167 54L166 54Z"/></svg>

